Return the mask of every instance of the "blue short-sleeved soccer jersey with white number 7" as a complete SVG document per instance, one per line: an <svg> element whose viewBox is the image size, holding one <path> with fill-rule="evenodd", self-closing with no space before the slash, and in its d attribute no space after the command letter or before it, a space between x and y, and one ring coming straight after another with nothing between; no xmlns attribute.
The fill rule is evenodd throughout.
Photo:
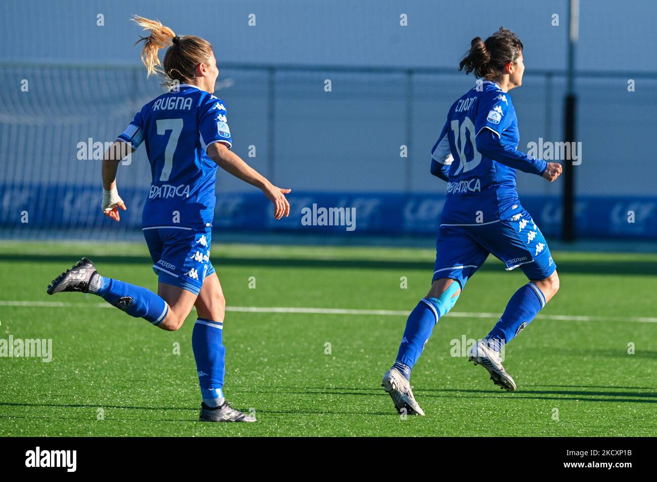
<svg viewBox="0 0 657 482"><path fill-rule="evenodd" d="M206 149L232 146L221 99L182 84L143 106L118 140L146 147L152 183L143 227L212 227L217 165Z"/></svg>

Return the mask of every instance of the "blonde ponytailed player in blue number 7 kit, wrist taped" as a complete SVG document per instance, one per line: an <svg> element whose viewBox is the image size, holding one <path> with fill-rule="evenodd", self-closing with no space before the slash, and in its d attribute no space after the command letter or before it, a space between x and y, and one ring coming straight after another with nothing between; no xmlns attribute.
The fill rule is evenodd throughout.
<svg viewBox="0 0 657 482"><path fill-rule="evenodd" d="M180 328L195 306L192 345L202 394L199 420L255 422L223 397L225 299L210 262L217 165L260 188L273 203L276 219L290 213L285 198L290 189L272 185L231 152L225 104L212 94L219 76L212 45L194 35L176 35L156 20L135 16L133 21L148 32L141 38L148 75L164 76L170 92L143 106L105 153L102 211L119 221L120 209L127 209L118 194L116 171L127 152L144 144L152 183L142 225L158 294L101 276L87 257L53 280L47 292L93 293L163 330ZM164 64L160 49L166 49Z"/></svg>

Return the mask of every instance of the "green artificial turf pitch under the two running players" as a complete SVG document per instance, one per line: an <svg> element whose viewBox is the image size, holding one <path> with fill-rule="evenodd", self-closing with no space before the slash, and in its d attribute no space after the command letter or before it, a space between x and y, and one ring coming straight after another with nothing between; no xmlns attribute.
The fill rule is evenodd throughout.
<svg viewBox="0 0 657 482"><path fill-rule="evenodd" d="M413 370L426 417L404 419L380 380L404 313L429 288L432 250L215 244L229 307L225 394L255 410L256 424L196 421L194 312L164 332L93 295L48 296L81 255L101 274L156 288L143 244L1 243L0 338L52 339L53 359L0 358L0 435L657 435L657 255L553 253L560 292L507 346L514 393L452 356L464 351L457 342L484 337L526 282L489 259ZM403 313L235 311L245 307Z"/></svg>

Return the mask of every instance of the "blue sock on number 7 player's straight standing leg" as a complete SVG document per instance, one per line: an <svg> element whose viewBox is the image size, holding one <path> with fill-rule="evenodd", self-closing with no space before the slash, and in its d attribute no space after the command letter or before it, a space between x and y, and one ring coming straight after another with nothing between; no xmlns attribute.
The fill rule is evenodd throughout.
<svg viewBox="0 0 657 482"><path fill-rule="evenodd" d="M192 332L201 397L207 406L223 404L223 376L226 349L221 341L223 322L197 318Z"/></svg>

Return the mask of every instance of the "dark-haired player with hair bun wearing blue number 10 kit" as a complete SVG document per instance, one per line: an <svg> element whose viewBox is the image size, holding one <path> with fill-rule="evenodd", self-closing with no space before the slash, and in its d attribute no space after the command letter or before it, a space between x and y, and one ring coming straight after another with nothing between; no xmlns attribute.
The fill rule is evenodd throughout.
<svg viewBox="0 0 657 482"><path fill-rule="evenodd" d="M466 281L489 253L507 270L520 268L529 279L511 297L503 315L469 352L491 380L513 391L516 383L502 366L499 352L536 316L559 289L556 265L516 190L516 169L555 181L561 165L518 151L518 120L509 91L522 84L523 47L503 27L486 41L472 39L459 70L473 72L475 87L454 102L431 150L431 173L447 181L436 243L432 286L406 322L395 364L382 385L400 412L424 415L411 391L411 369L440 317L456 303Z"/></svg>

